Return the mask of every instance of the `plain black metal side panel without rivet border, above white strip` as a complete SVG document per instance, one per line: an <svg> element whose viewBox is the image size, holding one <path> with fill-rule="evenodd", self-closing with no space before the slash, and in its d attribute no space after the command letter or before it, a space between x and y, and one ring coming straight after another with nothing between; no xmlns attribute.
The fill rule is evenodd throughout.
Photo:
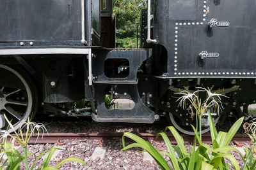
<svg viewBox="0 0 256 170"><path fill-rule="evenodd" d="M1 46L13 41L81 45L80 0L2 0L0 15L0 42L5 43Z"/></svg>

